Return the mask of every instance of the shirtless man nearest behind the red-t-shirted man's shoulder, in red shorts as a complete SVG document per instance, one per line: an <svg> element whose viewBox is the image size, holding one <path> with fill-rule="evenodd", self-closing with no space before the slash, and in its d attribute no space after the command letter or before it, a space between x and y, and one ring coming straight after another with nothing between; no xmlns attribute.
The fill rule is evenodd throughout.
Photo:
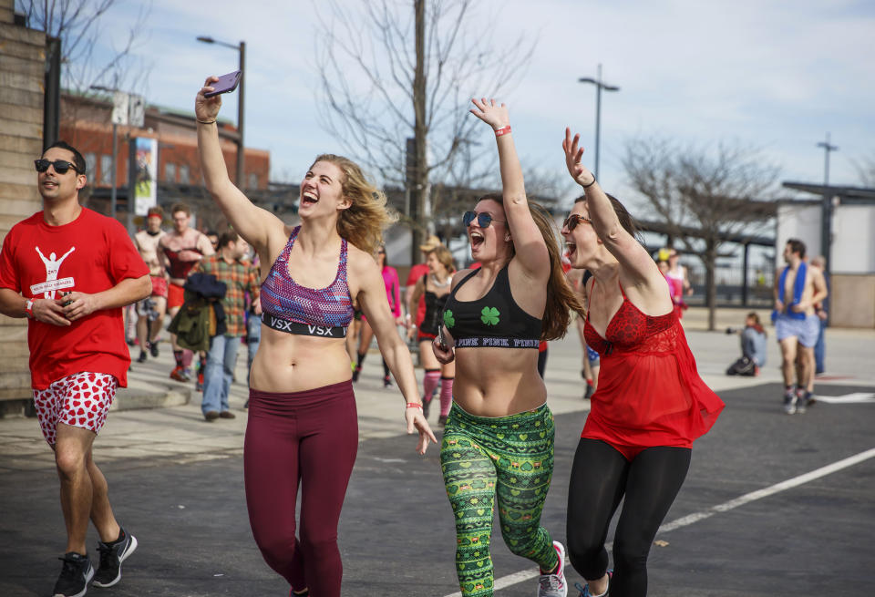
<svg viewBox="0 0 875 597"><path fill-rule="evenodd" d="M158 357L158 335L167 313L167 270L158 252L158 243L165 232L161 230L164 210L160 206L149 208L146 214L146 230L134 235L134 245L139 256L149 266L152 280L152 295L137 304L137 337L139 338L139 363L146 362L146 351Z"/></svg>

